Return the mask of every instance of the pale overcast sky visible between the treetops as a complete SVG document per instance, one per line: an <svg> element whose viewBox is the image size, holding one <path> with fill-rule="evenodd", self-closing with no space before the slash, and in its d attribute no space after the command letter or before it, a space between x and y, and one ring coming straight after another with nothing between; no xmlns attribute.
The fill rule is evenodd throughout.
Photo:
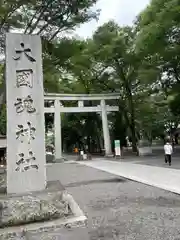
<svg viewBox="0 0 180 240"><path fill-rule="evenodd" d="M120 25L130 25L149 2L150 0L98 0L96 8L101 9L99 21L83 24L76 34L90 37L98 26L112 19Z"/></svg>

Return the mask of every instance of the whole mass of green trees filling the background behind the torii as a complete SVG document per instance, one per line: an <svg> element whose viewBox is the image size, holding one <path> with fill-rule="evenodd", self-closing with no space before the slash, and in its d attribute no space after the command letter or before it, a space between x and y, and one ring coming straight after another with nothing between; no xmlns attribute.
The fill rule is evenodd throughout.
<svg viewBox="0 0 180 240"><path fill-rule="evenodd" d="M128 136L137 151L139 139L172 135L179 124L179 0L151 0L132 26L109 21L89 39L62 36L98 17L99 11L91 8L94 3L96 0L7 0L0 10L0 31L19 29L42 36L45 92L118 93L120 100L110 104L118 105L119 112L108 116L112 140L120 139L125 146ZM3 49L3 38L1 46ZM3 71L2 66L1 85ZM52 123L52 116L47 121ZM3 124L2 120L0 128L5 129ZM97 114L64 114L62 133L65 148L103 148Z"/></svg>

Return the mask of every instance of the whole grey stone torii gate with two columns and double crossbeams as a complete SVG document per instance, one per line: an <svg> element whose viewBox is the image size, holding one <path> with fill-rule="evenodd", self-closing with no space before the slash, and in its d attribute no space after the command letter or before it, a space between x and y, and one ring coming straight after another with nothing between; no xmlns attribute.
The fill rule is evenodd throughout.
<svg viewBox="0 0 180 240"><path fill-rule="evenodd" d="M111 140L109 134L109 126L107 112L119 111L118 106L106 105L106 100L119 99L117 93L112 94L56 94L49 93L44 95L45 101L53 101L54 107L45 107L45 113L54 113L54 129L55 129L55 158L62 158L62 136L61 136L61 113L80 113L80 112L100 112L102 117L103 137L105 155L112 155ZM84 101L99 100L100 105L93 107L85 107ZM61 101L78 101L77 107L63 107Z"/></svg>

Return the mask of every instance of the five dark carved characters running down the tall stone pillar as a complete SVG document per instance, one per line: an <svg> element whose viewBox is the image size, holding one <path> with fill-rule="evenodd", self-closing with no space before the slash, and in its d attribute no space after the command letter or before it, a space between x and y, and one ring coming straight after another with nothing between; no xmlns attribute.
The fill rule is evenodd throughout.
<svg viewBox="0 0 180 240"><path fill-rule="evenodd" d="M30 60L31 62L35 62L36 60L31 56L31 49L25 48L24 43L20 44L21 49L15 50L16 57L13 57L14 60L20 60L22 54ZM16 87L29 87L33 88L33 71L29 70L16 70ZM36 109L33 106L33 99L31 95L28 95L25 98L17 98L17 101L14 103L16 113L22 114L25 111L27 113L35 113ZM17 125L16 129L16 140L19 140L20 143L27 142L30 144L32 140L35 139L36 128L32 127L30 121L27 122L27 126L23 126L22 124ZM32 151L29 151L28 156L25 156L23 152L18 154L18 160L16 161L16 172L25 172L30 169L38 170L38 165L34 162L36 161L36 157L34 156Z"/></svg>

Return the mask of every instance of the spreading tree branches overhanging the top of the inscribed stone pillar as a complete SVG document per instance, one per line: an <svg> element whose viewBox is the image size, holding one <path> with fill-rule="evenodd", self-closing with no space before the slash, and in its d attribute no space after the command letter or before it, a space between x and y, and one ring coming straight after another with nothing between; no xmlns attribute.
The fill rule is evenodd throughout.
<svg viewBox="0 0 180 240"><path fill-rule="evenodd" d="M80 24L96 19L99 11L91 10L97 0L87 1L54 1L54 0L4 0L0 9L0 49L4 50L4 34L12 29L20 30L25 34L38 34L43 38L44 55L47 57L47 47L60 37L64 31L74 30ZM47 73L47 72L46 72ZM47 73L48 74L48 73ZM49 78L49 76L47 76ZM55 81L45 80L46 88L54 90ZM56 83L55 83L56 82ZM5 83L1 89L0 106L5 100Z"/></svg>

